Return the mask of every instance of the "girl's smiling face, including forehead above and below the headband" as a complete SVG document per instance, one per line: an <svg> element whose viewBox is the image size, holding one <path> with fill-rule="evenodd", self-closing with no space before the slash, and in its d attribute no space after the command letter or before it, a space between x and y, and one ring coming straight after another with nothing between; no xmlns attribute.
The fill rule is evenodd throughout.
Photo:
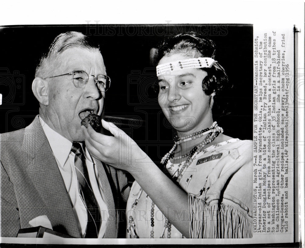
<svg viewBox="0 0 305 248"><path fill-rule="evenodd" d="M160 64L188 59L176 53L161 58ZM170 124L180 132L196 132L213 123L212 101L202 89L207 73L200 69L181 69L158 76L158 102Z"/></svg>

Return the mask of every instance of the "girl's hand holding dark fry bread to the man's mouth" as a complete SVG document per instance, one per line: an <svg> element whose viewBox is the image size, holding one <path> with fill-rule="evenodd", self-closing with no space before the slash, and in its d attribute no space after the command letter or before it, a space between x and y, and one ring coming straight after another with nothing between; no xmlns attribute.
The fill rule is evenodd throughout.
<svg viewBox="0 0 305 248"><path fill-rule="evenodd" d="M102 126L113 136L97 133L88 125L82 126L85 143L90 154L113 167L128 172L138 170L137 161L147 158L147 155L124 131L111 122L102 120Z"/></svg>

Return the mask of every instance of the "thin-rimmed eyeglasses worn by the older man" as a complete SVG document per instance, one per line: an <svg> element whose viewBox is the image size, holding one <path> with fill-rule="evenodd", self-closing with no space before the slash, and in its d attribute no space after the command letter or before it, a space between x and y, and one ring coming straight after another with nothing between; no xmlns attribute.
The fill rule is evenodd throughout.
<svg viewBox="0 0 305 248"><path fill-rule="evenodd" d="M72 82L76 88L84 88L89 80L89 75L84 71L73 71L70 73L52 76L52 77L59 77L59 76L65 76L65 75L72 75ZM52 78L52 77L45 77L44 79ZM111 83L110 77L107 75L102 75L102 74L97 75L95 77L94 81L95 81L98 89L102 92L107 91L109 89L110 83Z"/></svg>

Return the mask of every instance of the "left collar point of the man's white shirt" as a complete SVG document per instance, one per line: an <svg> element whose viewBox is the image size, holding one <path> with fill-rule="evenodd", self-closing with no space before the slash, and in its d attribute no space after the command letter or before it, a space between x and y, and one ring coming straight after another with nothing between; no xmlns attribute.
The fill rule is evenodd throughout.
<svg viewBox="0 0 305 248"><path fill-rule="evenodd" d="M59 133L56 133L56 131L50 128L40 116L39 120L54 157L59 161L60 166L63 167L70 154L72 142L61 136Z"/></svg>

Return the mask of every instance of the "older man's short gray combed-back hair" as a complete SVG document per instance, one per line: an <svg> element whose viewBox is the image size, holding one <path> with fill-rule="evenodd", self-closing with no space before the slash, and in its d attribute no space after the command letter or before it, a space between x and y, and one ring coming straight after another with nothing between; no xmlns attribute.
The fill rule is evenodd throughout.
<svg viewBox="0 0 305 248"><path fill-rule="evenodd" d="M58 56L68 48L83 48L92 51L100 51L99 45L95 44L88 36L80 32L66 32L59 34L48 49L48 53L42 55L36 67L35 77L48 77L53 69L59 66Z"/></svg>

